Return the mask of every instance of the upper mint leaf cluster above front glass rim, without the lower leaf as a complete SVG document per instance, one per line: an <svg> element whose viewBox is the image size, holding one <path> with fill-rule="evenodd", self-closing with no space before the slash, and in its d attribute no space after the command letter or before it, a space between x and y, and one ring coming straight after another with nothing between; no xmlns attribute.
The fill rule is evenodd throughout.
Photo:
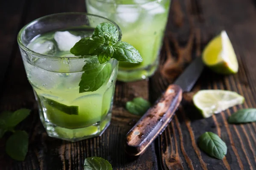
<svg viewBox="0 0 256 170"><path fill-rule="evenodd" d="M142 62L139 51L131 44L117 41L116 27L111 23L101 23L96 26L92 37L85 37L76 42L70 52L75 56L97 55L100 64L111 58L131 63Z"/></svg>

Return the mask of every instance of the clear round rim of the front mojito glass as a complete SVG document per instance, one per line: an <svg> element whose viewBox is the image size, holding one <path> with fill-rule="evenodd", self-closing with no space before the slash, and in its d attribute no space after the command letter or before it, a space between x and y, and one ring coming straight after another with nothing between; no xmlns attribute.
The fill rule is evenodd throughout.
<svg viewBox="0 0 256 170"><path fill-rule="evenodd" d="M108 20L110 23L112 23L114 26L116 26L117 28L117 31L119 32L119 37L118 37L118 41L121 41L121 38L122 38L122 31L121 31L121 28L112 20L108 19L108 18L105 18L105 17L102 17L102 16L99 16L99 15L95 15L95 14L89 14L89 13L86 13L86 12L61 12L61 13L55 13L55 14L49 14L49 15L45 15L43 17L39 17L29 23L27 23L25 26L23 26L18 35L17 35L17 42L18 42L18 45L20 48L22 48L24 51L26 52L29 52L29 54L32 54L32 55L35 55L36 57L40 57L40 58L47 58L47 59L84 59L84 58L88 58L88 57L84 57L84 56L76 56L76 57L57 57L57 56L51 56L51 55L45 55L45 54L41 54L41 53L38 53L38 52L35 52L33 51L32 49L29 49L26 47L26 45L23 44L22 40L21 40L21 35L23 33L23 31L29 27L29 26L32 26L33 24L37 23L39 20L42 20L42 19L45 19L47 17L52 17L52 16L57 16L57 15L65 15L65 14L74 14L74 15L86 15L86 16L94 16L94 17L99 17L99 18L102 18L102 19L105 19L105 20ZM90 57L93 57L93 56L90 56Z"/></svg>

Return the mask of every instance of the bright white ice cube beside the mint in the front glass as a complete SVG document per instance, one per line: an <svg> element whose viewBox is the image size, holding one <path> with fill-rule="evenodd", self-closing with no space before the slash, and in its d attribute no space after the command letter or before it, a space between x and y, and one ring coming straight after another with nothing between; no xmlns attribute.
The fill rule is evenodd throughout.
<svg viewBox="0 0 256 170"><path fill-rule="evenodd" d="M76 42L81 40L81 37L70 34L69 31L56 31L54 39L61 51L70 51L70 48L72 48Z"/></svg>

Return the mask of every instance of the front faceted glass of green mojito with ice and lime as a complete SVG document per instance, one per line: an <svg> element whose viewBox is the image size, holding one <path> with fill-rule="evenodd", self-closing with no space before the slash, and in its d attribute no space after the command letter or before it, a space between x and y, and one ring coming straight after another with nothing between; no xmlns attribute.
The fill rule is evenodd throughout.
<svg viewBox="0 0 256 170"><path fill-rule="evenodd" d="M97 56L76 57L70 48L83 37L90 37L104 17L85 13L60 13L41 17L24 26L17 37L27 78L38 102L41 122L49 136L68 141L100 136L111 120L113 93L118 62L110 59L96 70L108 67L105 82L95 82L97 74L88 74L93 87L79 93L79 82ZM121 40L122 33L116 27ZM93 77L95 76L95 77ZM99 86L96 90L91 88Z"/></svg>

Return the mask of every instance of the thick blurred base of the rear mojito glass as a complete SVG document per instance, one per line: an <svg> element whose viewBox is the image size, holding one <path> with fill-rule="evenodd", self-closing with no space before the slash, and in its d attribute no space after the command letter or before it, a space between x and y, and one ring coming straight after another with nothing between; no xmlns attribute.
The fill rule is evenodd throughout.
<svg viewBox="0 0 256 170"><path fill-rule="evenodd" d="M119 66L117 80L122 82L133 82L147 79L154 74L154 72L157 70L158 65L159 59L157 59L153 64L148 65L144 68L124 69Z"/></svg>

